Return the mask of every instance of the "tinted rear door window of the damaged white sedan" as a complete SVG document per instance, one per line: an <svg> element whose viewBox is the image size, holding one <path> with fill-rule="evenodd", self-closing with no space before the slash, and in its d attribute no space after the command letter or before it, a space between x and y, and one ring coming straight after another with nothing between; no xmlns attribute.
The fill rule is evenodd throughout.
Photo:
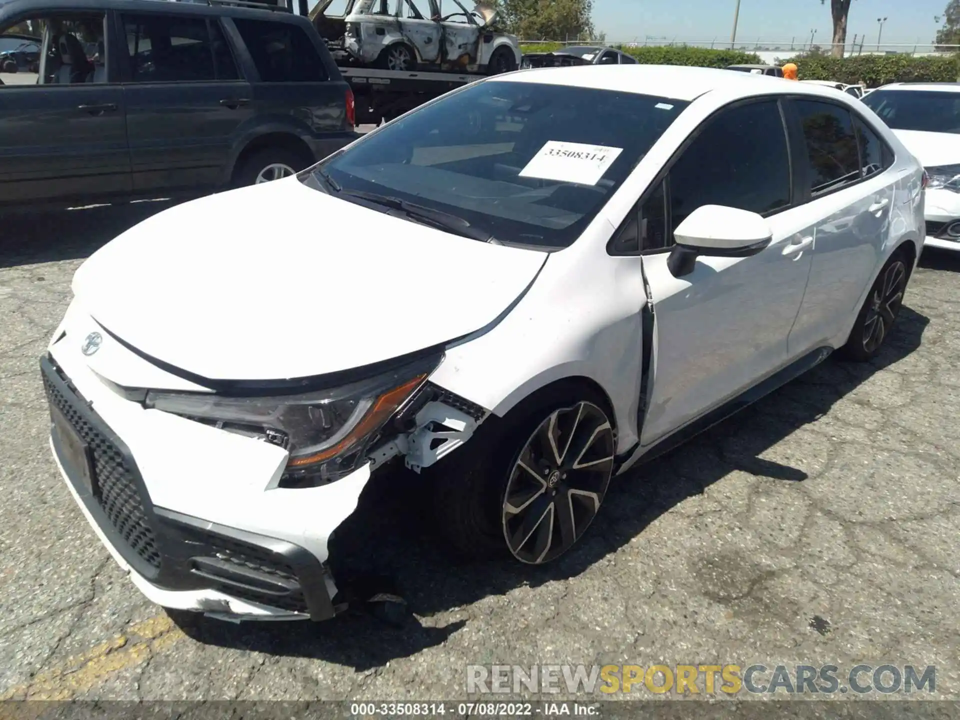
<svg viewBox="0 0 960 720"><path fill-rule="evenodd" d="M804 127L810 191L835 190L860 179L853 122L846 108L816 100L796 101Z"/></svg>

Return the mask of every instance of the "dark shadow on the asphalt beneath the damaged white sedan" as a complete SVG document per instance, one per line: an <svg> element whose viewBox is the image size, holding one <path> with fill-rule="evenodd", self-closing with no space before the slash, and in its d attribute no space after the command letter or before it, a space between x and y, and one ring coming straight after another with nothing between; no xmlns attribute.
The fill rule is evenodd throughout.
<svg viewBox="0 0 960 720"><path fill-rule="evenodd" d="M909 296L908 296L909 300ZM804 471L760 457L795 430L828 413L842 396L920 347L929 320L904 306L895 331L870 363L833 357L756 405L714 426L683 448L632 469L611 485L597 521L559 561L543 567L508 561L463 564L431 532L425 483L404 469L372 479L357 511L331 540L340 565L391 577L417 617L398 627L370 614L348 612L325 623L242 623L204 619L185 632L218 646L322 659L358 671L381 667L440 645L468 622L438 626L434 616L456 611L521 586L540 587L579 575L616 552L651 522L704 492L733 470L771 482L803 482Z"/></svg>

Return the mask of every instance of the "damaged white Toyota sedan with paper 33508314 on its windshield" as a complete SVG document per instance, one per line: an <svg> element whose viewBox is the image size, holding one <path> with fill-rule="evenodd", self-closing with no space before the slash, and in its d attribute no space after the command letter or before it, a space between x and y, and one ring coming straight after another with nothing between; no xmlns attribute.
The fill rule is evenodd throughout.
<svg viewBox="0 0 960 720"><path fill-rule="evenodd" d="M445 544L556 560L612 476L875 356L923 241L923 169L835 91L497 76L95 252L41 359L51 444L156 603L324 619L388 461Z"/></svg>

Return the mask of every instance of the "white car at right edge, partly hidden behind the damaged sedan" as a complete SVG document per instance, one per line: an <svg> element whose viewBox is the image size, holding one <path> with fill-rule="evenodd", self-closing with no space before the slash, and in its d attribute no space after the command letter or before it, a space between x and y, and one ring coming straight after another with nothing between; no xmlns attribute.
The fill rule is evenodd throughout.
<svg viewBox="0 0 960 720"><path fill-rule="evenodd" d="M960 251L960 85L884 85L863 102L926 169L924 244Z"/></svg>

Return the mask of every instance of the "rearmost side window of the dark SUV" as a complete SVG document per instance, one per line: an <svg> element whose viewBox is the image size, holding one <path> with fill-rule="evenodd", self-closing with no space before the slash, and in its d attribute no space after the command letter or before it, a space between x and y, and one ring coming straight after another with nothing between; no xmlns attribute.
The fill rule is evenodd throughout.
<svg viewBox="0 0 960 720"><path fill-rule="evenodd" d="M326 70L320 53L299 25L233 18L264 83L320 83Z"/></svg>

